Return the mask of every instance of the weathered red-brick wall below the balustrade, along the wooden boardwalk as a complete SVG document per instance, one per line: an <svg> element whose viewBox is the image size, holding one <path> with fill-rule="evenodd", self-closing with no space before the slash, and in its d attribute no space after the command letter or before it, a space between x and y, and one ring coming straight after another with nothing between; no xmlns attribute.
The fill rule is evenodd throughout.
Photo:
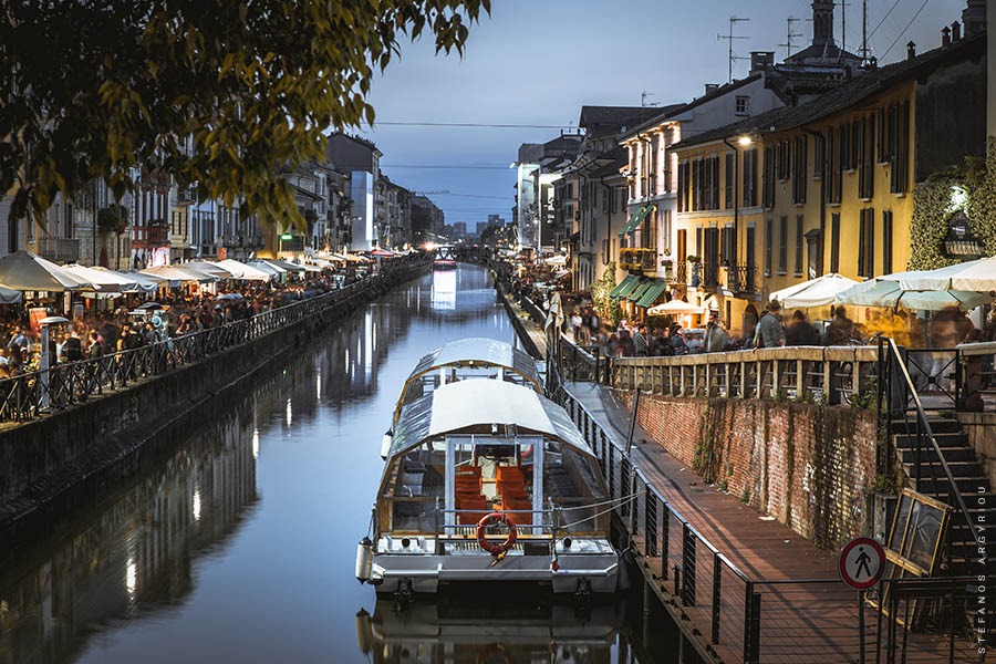
<svg viewBox="0 0 996 664"><path fill-rule="evenodd" d="M633 392L613 393L632 411ZM696 474L822 549L864 531L875 477L872 411L641 395L637 419Z"/></svg>

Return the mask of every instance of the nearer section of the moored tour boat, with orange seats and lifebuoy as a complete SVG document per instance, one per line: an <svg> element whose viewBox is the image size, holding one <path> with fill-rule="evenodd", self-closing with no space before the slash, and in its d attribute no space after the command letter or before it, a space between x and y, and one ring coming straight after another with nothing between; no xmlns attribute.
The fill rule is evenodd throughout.
<svg viewBox="0 0 996 664"><path fill-rule="evenodd" d="M378 593L528 581L613 592L605 486L559 405L496 380L436 387L402 406L356 575Z"/></svg>

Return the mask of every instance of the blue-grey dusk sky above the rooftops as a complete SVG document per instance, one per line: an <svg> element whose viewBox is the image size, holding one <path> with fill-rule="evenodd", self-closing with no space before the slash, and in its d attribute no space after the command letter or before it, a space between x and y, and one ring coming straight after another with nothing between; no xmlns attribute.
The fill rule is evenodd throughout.
<svg viewBox="0 0 996 664"><path fill-rule="evenodd" d="M964 7L964 0L868 0L872 54L888 63L905 56L910 40L921 52L938 46L942 27L961 20ZM845 7L850 51L860 46L861 8L861 0ZM750 19L735 28L748 38L735 40L739 55L775 51L777 61L785 59L779 44L790 15L802 19L793 24L800 34L793 52L812 37L810 0L492 0L490 18L470 29L463 60L436 56L430 40L402 43L401 59L374 84L371 102L384 123L577 128L584 104L639 106L643 92L647 103L685 102L702 95L706 83L725 83L727 40L717 34L728 33L732 15ZM838 41L841 18L838 7ZM734 77L748 66L736 61ZM447 224L466 221L473 230L489 212L510 220L515 172L508 166L519 144L548 141L559 129L385 124L363 134L384 153L392 180L419 193L450 191L429 197Z"/></svg>

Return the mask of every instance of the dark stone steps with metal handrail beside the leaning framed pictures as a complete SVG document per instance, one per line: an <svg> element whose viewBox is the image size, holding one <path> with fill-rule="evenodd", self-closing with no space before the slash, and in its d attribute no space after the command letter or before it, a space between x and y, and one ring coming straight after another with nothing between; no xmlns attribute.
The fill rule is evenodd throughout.
<svg viewBox="0 0 996 664"><path fill-rule="evenodd" d="M927 422L934 432L934 438L937 440L937 446L941 447L944 460L951 468L962 498L965 500L969 517L975 521L976 527L982 526L985 529L996 519L996 496L994 496L993 487L975 455L975 449L968 442L968 435L962 430L962 425L954 417L954 413L928 413ZM916 480L916 428L915 414L911 416L909 423L893 421L891 433L896 454L903 464L903 470L909 478L911 488L952 507L947 537L948 573L968 573L972 569L968 564L969 561L978 560L977 547L972 531L958 509L957 501L950 495L951 486L947 477L933 445L926 437L922 439L920 481ZM933 477L931 464L933 464ZM983 489L982 494L979 494L979 488ZM978 506L979 497L986 499L984 507ZM985 516L985 521L979 522L981 516Z"/></svg>

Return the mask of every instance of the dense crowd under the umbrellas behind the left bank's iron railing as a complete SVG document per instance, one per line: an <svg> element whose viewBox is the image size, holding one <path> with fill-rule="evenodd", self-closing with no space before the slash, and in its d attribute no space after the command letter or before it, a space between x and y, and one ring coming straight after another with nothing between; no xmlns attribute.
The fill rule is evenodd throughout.
<svg viewBox="0 0 996 664"><path fill-rule="evenodd" d="M122 303L107 309L84 308L69 323L53 325L49 334L49 364L101 357L142 347L159 341L193 334L226 323L247 320L313 298L356 281L323 271L308 273L304 281L229 281L218 292L198 287L160 290L154 302L141 302L138 295L122 295ZM132 300L132 301L127 301ZM92 304L95 300L90 300ZM8 304L0 312L0 378L37 371L41 365L41 331L32 326L33 305ZM51 313L51 312L49 312Z"/></svg>

